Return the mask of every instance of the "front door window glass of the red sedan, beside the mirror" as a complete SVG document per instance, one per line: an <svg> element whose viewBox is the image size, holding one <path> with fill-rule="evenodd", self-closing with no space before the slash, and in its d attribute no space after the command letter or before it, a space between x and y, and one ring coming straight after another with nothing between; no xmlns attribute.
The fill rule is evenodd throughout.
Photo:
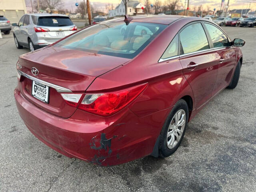
<svg viewBox="0 0 256 192"><path fill-rule="evenodd" d="M220 29L208 23L205 23L205 26L210 34L214 48L226 47L229 45L228 38Z"/></svg>

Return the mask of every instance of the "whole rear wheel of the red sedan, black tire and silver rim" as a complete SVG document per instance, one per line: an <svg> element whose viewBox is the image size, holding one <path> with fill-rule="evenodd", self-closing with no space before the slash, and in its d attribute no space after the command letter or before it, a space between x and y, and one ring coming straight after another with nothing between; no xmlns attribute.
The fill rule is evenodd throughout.
<svg viewBox="0 0 256 192"><path fill-rule="evenodd" d="M188 123L188 105L179 100L172 108L160 133L159 154L168 157L180 146Z"/></svg>

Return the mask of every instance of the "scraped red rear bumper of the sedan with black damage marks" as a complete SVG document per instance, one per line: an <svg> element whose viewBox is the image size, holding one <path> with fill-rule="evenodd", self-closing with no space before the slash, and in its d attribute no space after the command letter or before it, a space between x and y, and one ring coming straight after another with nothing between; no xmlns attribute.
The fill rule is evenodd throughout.
<svg viewBox="0 0 256 192"><path fill-rule="evenodd" d="M76 110L65 119L34 106L18 89L14 97L22 120L39 140L65 156L102 166L150 155L171 110L143 118L128 108L107 118Z"/></svg>

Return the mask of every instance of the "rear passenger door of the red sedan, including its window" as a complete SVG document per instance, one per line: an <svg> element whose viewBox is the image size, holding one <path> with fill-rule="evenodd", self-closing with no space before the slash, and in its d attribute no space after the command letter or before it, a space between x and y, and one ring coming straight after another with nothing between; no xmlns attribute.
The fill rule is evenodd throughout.
<svg viewBox="0 0 256 192"><path fill-rule="evenodd" d="M217 77L218 55L210 48L201 22L192 22L180 30L180 63L195 99L196 109L212 97Z"/></svg>

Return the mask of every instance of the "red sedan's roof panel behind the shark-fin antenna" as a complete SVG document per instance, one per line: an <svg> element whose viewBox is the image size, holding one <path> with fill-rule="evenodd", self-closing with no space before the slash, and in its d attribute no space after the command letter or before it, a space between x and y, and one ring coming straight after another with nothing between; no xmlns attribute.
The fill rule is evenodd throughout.
<svg viewBox="0 0 256 192"><path fill-rule="evenodd" d="M166 24L169 25L172 22L185 18L186 16L179 15L141 15L141 16L132 16L132 22L146 22L146 23L158 23L158 24ZM116 18L109 21L124 21L124 17Z"/></svg>

